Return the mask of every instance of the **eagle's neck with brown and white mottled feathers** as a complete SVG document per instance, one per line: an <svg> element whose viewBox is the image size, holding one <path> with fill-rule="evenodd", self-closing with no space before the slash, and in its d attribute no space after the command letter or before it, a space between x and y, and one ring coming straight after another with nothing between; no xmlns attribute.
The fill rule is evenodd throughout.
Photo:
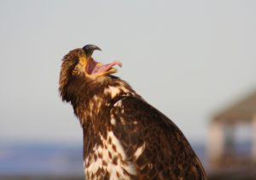
<svg viewBox="0 0 256 180"><path fill-rule="evenodd" d="M88 126L93 127L96 121L100 121L103 113L106 113L106 110L119 98L128 96L141 98L128 83L119 79L98 84L96 90L95 88L86 87L84 92L86 92L87 95L79 99L79 104L74 107L74 111L79 117L82 127L85 129L87 129Z"/></svg>

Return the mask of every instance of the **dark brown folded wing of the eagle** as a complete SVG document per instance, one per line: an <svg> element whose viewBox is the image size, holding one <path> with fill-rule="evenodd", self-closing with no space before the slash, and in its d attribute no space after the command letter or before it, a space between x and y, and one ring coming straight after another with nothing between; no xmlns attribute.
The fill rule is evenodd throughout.
<svg viewBox="0 0 256 180"><path fill-rule="evenodd" d="M121 98L110 110L113 133L142 179L207 179L179 128L140 98ZM144 145L144 148L143 148ZM138 151L142 152L138 152Z"/></svg>

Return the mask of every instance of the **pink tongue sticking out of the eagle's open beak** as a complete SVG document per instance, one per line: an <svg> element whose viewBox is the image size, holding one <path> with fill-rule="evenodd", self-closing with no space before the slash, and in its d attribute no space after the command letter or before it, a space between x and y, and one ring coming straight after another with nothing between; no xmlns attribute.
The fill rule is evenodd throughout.
<svg viewBox="0 0 256 180"><path fill-rule="evenodd" d="M92 65L90 67L90 69L91 69L90 74L96 75L96 74L100 74L102 72L108 71L113 67L113 65L119 65L119 67L122 67L121 62L119 62L119 61L113 61L112 63L109 63L107 65L101 65L101 64L96 63L96 61L93 61Z"/></svg>

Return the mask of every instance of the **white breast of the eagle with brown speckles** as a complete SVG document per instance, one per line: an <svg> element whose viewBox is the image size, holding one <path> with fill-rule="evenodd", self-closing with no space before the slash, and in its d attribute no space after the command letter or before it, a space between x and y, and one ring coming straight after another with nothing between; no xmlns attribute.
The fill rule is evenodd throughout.
<svg viewBox="0 0 256 180"><path fill-rule="evenodd" d="M135 166L127 160L124 147L111 131L106 138L101 136L101 143L95 144L84 160L84 172L88 179L130 179L136 175Z"/></svg>

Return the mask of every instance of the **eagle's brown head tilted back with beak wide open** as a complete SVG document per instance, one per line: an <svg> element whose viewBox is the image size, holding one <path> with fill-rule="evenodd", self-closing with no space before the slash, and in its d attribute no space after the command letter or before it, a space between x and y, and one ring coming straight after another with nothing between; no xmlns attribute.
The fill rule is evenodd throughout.
<svg viewBox="0 0 256 180"><path fill-rule="evenodd" d="M96 81L117 72L117 69L113 68L114 65L122 66L119 61L113 61L107 65L97 62L92 58L92 53L95 50L101 51L101 48L88 44L84 48L70 51L62 59L59 81L62 100L70 100L68 97L68 91L72 91L70 84ZM77 86L81 86L81 84L77 84Z"/></svg>

